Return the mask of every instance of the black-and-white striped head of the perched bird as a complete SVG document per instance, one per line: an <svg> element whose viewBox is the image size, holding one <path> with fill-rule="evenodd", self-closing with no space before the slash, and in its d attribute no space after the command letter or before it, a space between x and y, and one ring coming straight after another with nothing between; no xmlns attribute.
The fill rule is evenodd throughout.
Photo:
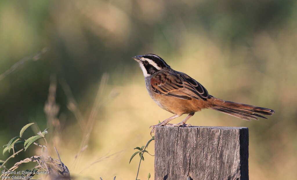
<svg viewBox="0 0 297 180"><path fill-rule="evenodd" d="M170 66L162 58L155 54L134 56L133 59L139 63L144 77L149 77L162 69L170 68Z"/></svg>

